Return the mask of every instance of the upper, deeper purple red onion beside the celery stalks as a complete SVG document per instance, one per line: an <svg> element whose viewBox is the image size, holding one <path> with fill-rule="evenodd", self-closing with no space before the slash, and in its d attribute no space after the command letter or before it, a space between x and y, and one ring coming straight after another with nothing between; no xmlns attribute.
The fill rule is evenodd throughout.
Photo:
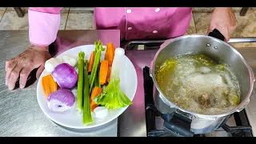
<svg viewBox="0 0 256 144"><path fill-rule="evenodd" d="M54 81L63 89L73 89L78 82L78 74L72 66L62 63L56 66L51 73Z"/></svg>

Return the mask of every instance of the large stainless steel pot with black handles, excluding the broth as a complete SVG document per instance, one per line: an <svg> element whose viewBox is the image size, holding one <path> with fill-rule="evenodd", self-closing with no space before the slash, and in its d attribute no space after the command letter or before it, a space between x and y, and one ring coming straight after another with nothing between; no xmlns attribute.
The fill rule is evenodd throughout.
<svg viewBox="0 0 256 144"><path fill-rule="evenodd" d="M154 104L162 118L166 120L165 130L177 136L207 134L218 129L234 112L243 110L250 102L250 94L254 86L253 71L245 58L223 40L224 37L218 30L214 30L209 36L186 35L164 43L155 54L150 64L150 76L155 86ZM181 54L204 54L214 60L226 62L238 78L241 91L240 104L224 114L205 115L192 113L170 102L159 89L155 74L162 62Z"/></svg>

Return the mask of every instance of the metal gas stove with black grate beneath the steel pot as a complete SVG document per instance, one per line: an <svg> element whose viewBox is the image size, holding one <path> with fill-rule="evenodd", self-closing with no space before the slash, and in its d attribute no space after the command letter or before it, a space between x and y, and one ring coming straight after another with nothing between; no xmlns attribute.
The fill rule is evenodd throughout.
<svg viewBox="0 0 256 144"><path fill-rule="evenodd" d="M239 40L239 39L238 39ZM236 41L236 39L232 39ZM126 56L133 62L138 77L138 88L133 105L118 117L118 137L174 137L164 128L164 120L154 107L154 83L149 74L150 62L165 40L131 41L122 46ZM132 46L138 45L138 46ZM256 49L238 48L256 73ZM256 135L256 85L250 102L244 110L234 113L218 130L210 134L195 134L193 137L254 137ZM168 122L169 123L169 122ZM166 124L166 122L165 122Z"/></svg>

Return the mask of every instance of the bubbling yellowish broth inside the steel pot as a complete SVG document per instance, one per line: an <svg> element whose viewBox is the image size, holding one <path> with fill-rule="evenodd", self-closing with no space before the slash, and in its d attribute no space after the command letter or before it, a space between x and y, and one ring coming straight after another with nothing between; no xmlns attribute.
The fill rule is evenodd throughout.
<svg viewBox="0 0 256 144"><path fill-rule="evenodd" d="M225 63L202 54L184 54L162 63L158 86L175 105L197 114L220 114L238 106L240 90Z"/></svg>

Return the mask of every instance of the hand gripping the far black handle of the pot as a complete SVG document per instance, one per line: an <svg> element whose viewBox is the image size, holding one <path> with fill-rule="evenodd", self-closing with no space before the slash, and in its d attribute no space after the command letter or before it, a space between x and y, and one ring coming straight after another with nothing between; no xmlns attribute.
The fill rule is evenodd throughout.
<svg viewBox="0 0 256 144"><path fill-rule="evenodd" d="M225 42L230 40L230 34L238 25L231 7L217 7L211 14L210 26L207 34L217 29L225 37Z"/></svg>

